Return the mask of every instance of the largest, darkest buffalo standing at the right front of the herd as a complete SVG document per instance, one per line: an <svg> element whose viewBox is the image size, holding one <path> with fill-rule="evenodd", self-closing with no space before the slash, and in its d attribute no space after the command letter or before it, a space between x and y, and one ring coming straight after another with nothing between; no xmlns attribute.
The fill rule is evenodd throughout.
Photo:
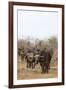
<svg viewBox="0 0 66 90"><path fill-rule="evenodd" d="M51 54L48 50L42 50L40 53L39 63L42 69L42 73L48 73L50 69Z"/></svg>

